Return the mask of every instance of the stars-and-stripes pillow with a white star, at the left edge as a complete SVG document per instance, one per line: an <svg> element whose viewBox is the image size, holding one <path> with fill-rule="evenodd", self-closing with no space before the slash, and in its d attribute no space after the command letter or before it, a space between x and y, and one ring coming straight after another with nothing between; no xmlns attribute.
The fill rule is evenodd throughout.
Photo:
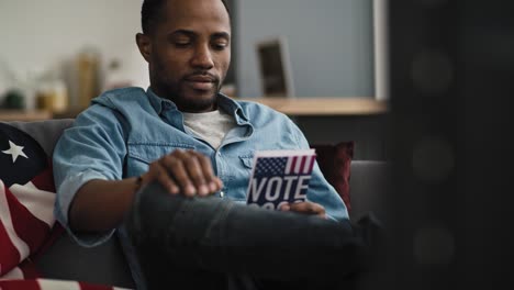
<svg viewBox="0 0 514 290"><path fill-rule="evenodd" d="M29 134L0 123L0 279L33 276L19 266L51 236L54 201L48 156Z"/></svg>

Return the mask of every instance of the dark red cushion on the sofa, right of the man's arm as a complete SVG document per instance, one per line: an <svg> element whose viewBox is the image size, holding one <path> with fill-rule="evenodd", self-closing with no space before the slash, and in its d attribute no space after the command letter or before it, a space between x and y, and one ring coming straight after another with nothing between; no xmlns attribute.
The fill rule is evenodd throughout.
<svg viewBox="0 0 514 290"><path fill-rule="evenodd" d="M337 144L314 144L316 160L326 180L339 193L348 211L350 204L350 164L354 158L355 142L339 142Z"/></svg>

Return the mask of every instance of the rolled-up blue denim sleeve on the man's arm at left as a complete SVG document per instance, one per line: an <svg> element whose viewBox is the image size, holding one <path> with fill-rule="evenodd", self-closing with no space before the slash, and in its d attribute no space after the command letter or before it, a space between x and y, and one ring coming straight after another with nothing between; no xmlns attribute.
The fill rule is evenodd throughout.
<svg viewBox="0 0 514 290"><path fill-rule="evenodd" d="M67 129L54 150L54 180L57 189L54 214L82 246L99 245L113 234L78 234L69 227L69 208L77 191L93 179L120 180L126 155L125 125L112 110L94 104ZM109 207L105 205L105 210Z"/></svg>

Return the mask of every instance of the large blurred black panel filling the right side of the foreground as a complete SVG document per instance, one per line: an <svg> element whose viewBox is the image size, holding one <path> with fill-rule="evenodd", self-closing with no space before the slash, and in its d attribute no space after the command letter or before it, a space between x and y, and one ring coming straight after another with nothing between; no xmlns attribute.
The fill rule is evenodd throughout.
<svg viewBox="0 0 514 290"><path fill-rule="evenodd" d="M512 243L513 4L390 0L390 289L500 289Z"/></svg>

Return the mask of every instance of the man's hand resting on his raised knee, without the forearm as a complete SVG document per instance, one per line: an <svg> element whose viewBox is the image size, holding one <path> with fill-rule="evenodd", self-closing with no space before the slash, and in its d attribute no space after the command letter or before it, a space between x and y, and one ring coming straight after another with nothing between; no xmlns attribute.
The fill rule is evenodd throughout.
<svg viewBox="0 0 514 290"><path fill-rule="evenodd" d="M171 194L205 197L223 188L212 171L211 160L194 150L176 149L152 163L142 185L158 180Z"/></svg>

